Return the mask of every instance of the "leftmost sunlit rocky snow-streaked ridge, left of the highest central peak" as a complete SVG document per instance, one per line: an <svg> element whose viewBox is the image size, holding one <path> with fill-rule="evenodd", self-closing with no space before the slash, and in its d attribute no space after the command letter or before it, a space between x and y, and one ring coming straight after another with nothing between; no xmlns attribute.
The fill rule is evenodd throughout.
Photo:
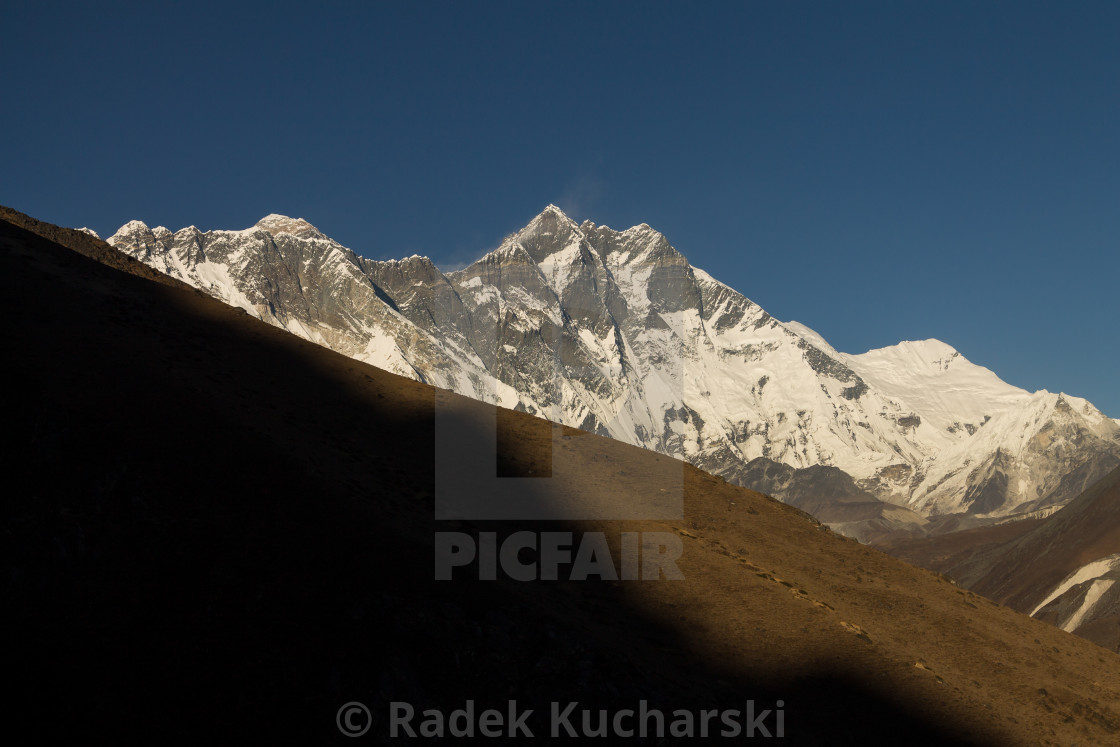
<svg viewBox="0 0 1120 747"><path fill-rule="evenodd" d="M516 395L446 340L416 329L377 296L348 249L306 221L271 215L243 231L171 233L140 221L109 243L312 343L393 373L505 404ZM407 340L405 354L401 340ZM424 371L410 361L424 356Z"/></svg>

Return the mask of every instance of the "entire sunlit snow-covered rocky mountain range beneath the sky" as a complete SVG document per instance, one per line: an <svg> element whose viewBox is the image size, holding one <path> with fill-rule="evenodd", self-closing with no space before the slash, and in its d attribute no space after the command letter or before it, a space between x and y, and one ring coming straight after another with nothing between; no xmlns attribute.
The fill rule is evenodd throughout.
<svg viewBox="0 0 1120 747"><path fill-rule="evenodd" d="M836 468L851 480L815 474L818 503L849 503L858 489L906 508L829 514L856 536L1062 505L1120 464L1120 424L1089 402L1010 386L937 340L838 353L691 267L645 224L577 225L550 206L447 274L427 258L364 260L276 215L207 233L132 222L109 242L388 371L741 485L755 485L759 458Z"/></svg>

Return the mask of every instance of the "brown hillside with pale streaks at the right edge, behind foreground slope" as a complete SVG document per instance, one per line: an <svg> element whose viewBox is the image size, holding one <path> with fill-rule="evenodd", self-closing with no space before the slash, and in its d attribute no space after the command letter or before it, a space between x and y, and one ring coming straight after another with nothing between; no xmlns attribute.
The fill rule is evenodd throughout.
<svg viewBox="0 0 1120 747"><path fill-rule="evenodd" d="M1049 516L884 549L1120 652L1120 468Z"/></svg>

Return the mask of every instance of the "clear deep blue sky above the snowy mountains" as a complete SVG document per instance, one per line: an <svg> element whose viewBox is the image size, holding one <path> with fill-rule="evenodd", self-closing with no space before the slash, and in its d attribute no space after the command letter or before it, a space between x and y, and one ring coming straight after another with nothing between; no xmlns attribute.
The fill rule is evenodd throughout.
<svg viewBox="0 0 1120 747"><path fill-rule="evenodd" d="M158 4L2 0L0 203L444 267L556 203L1120 417L1120 3Z"/></svg>

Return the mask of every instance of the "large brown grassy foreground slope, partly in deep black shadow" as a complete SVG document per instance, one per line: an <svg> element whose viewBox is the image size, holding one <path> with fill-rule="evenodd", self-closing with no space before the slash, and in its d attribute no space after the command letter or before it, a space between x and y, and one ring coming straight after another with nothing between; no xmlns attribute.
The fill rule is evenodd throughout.
<svg viewBox="0 0 1120 747"><path fill-rule="evenodd" d="M4 223L0 263L0 615L12 710L45 738L319 744L348 700L383 738L389 701L467 698L782 699L795 744L1120 734L1112 654L683 465L681 521L538 526L676 532L684 581L435 582L433 531L522 529L432 520L437 398L492 408ZM548 424L500 418L515 470L551 461ZM664 471L564 432L563 489L625 499Z"/></svg>

